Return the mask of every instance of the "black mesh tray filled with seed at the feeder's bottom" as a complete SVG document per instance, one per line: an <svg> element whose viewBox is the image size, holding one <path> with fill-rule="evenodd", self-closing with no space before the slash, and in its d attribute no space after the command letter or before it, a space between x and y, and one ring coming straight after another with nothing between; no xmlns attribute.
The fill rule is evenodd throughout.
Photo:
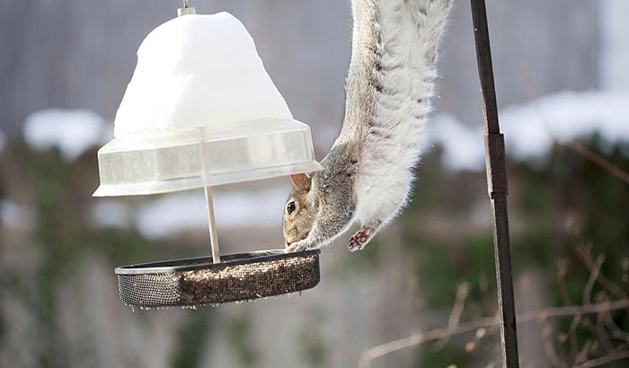
<svg viewBox="0 0 629 368"><path fill-rule="evenodd" d="M141 308L194 307L295 293L319 284L319 250L265 250L116 268L120 299Z"/></svg>

